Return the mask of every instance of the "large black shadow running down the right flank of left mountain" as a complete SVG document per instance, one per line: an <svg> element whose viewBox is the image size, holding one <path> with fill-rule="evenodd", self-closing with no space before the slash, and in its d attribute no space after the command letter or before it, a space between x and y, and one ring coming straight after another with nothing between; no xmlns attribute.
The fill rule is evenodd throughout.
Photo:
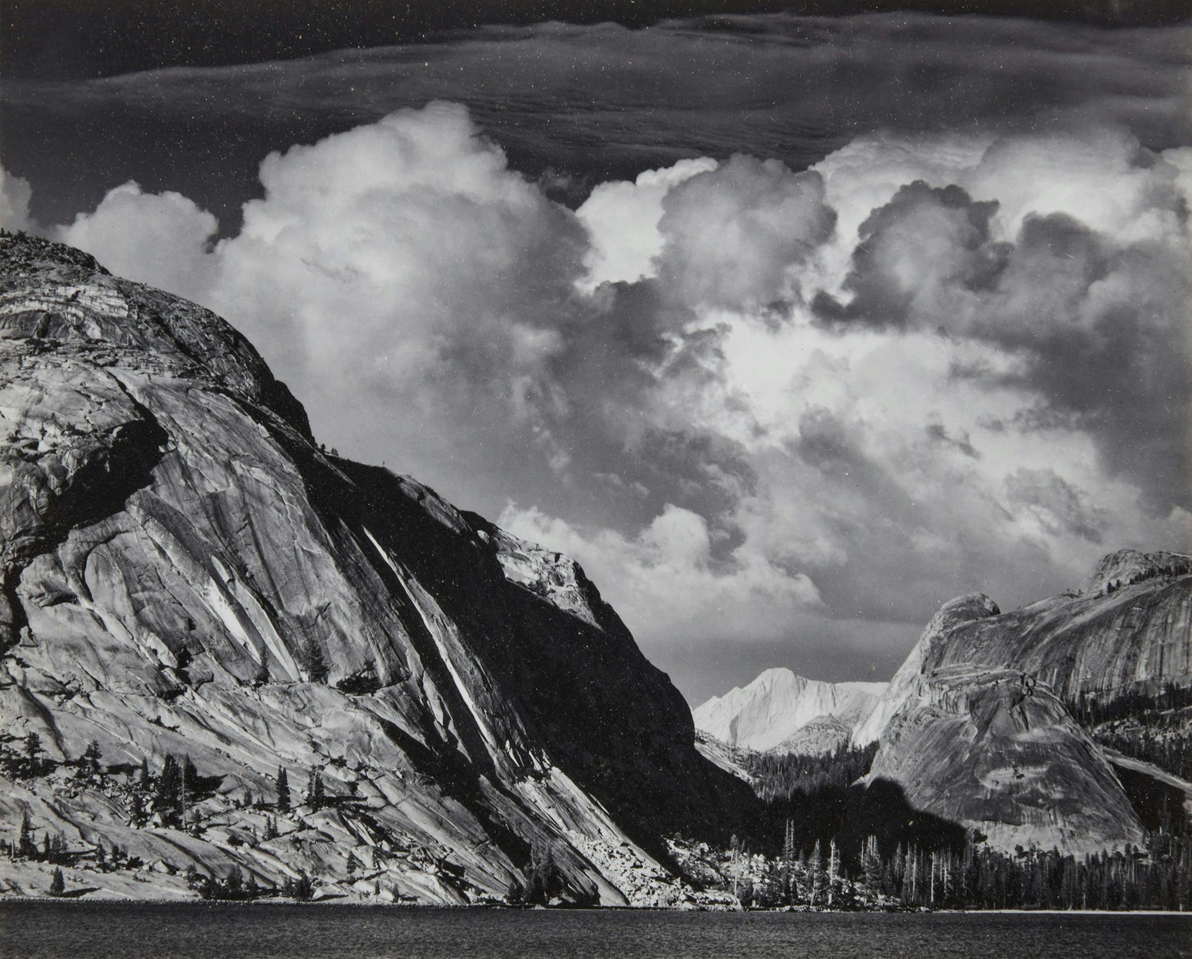
<svg viewBox="0 0 1192 959"><path fill-rule="evenodd" d="M520 708L532 742L637 842L665 855L665 835L726 842L734 833L752 832L763 815L760 801L696 753L682 695L641 654L582 572L579 585L598 627L507 580L493 549L476 535L491 537L495 530L482 517L461 513L467 529L457 531L427 510L427 493L417 484L379 467L325 457L293 436L274 434L298 463L328 528L347 527L360 541L367 529L399 553L458 624L471 653ZM399 593L392 569L379 556L373 565ZM412 624L412 633L418 631ZM427 664L437 664L429 636L411 640L420 655L424 650ZM436 684L461 720L459 734L473 764L445 749L434 758L421 754L418 765L476 809L478 776L485 774L497 789L501 781L454 681L441 665L434 670L443 672ZM516 858L519 846L509 841L507 851Z"/></svg>

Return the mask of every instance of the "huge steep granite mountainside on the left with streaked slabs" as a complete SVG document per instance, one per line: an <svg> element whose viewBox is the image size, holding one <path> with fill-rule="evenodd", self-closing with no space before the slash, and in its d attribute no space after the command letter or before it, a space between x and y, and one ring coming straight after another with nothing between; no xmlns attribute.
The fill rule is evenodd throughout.
<svg viewBox="0 0 1192 959"><path fill-rule="evenodd" d="M550 846L565 897L622 903L584 849L652 861L753 809L575 562L327 455L223 320L24 237L0 238L0 535L5 741L56 770L0 780L0 820L161 863L93 877L120 895L238 865L473 902ZM98 776L57 765L92 741ZM129 808L167 753L218 784L186 832ZM323 808L262 811L279 767L296 805L319 771Z"/></svg>

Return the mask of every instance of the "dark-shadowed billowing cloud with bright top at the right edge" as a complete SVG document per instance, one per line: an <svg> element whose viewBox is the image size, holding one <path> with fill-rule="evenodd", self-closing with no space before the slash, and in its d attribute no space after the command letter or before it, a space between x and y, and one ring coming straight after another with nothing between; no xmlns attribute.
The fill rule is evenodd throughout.
<svg viewBox="0 0 1192 959"><path fill-rule="evenodd" d="M1119 131L991 145L957 179L915 180L861 224L831 324L936 330L1010 362L1035 415L1079 421L1153 511L1192 503L1187 423L1192 259L1180 169Z"/></svg>

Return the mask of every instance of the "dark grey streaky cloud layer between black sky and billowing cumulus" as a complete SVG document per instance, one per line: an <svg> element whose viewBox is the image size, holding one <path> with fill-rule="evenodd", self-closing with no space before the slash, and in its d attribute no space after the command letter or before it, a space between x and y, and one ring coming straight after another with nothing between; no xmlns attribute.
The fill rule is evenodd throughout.
<svg viewBox="0 0 1192 959"><path fill-rule="evenodd" d="M1112 125L1162 150L1192 142L1190 38L1187 26L918 13L489 26L294 61L10 81L0 161L33 181L46 222L132 179L235 232L271 150L434 100L466 105L516 169L571 205L684 157L801 170L876 131Z"/></svg>

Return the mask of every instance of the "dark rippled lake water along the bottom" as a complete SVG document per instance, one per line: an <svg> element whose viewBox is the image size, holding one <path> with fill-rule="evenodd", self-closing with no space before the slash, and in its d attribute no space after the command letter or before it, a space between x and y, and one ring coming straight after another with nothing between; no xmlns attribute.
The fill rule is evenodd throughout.
<svg viewBox="0 0 1192 959"><path fill-rule="evenodd" d="M2 903L0 955L932 959L1192 955L1192 915L642 913Z"/></svg>

